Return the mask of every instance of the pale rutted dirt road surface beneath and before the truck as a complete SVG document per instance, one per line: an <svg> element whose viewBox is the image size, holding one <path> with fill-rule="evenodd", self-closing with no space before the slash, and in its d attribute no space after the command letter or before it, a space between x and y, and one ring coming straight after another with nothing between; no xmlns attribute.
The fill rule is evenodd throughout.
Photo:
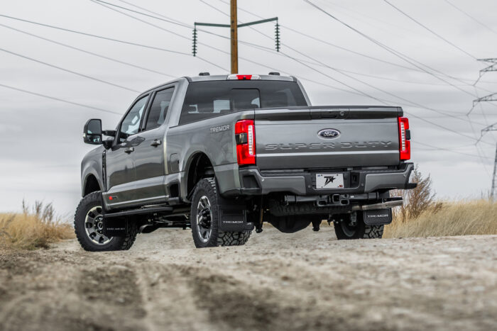
<svg viewBox="0 0 497 331"><path fill-rule="evenodd" d="M497 330L497 236L337 241L332 227L195 249L75 240L0 252L0 330Z"/></svg>

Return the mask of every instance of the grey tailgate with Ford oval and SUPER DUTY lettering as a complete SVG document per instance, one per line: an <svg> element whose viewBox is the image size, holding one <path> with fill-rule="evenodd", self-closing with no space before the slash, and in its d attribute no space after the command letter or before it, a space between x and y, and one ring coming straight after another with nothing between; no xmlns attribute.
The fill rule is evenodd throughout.
<svg viewBox="0 0 497 331"><path fill-rule="evenodd" d="M393 166L399 162L398 107L257 109L259 169Z"/></svg>

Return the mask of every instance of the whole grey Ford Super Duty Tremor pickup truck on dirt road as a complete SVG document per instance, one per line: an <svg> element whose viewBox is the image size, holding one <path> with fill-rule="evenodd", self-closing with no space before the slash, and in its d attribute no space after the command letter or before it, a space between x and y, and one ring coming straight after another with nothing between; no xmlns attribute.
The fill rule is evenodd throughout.
<svg viewBox="0 0 497 331"><path fill-rule="evenodd" d="M409 183L402 108L311 106L294 77L181 77L143 92L115 130L88 120L75 231L89 251L138 233L191 228L196 247L244 245L334 223L339 240L378 238ZM104 137L107 137L104 139Z"/></svg>

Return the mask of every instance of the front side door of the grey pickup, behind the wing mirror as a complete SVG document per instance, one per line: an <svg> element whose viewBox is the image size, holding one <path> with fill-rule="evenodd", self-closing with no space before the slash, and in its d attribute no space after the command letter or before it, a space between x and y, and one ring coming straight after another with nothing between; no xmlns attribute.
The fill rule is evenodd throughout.
<svg viewBox="0 0 497 331"><path fill-rule="evenodd" d="M145 115L149 94L137 99L117 128L112 147L105 152L106 191L103 194L106 206L126 206L134 199L136 172L133 152L143 138L138 136Z"/></svg>

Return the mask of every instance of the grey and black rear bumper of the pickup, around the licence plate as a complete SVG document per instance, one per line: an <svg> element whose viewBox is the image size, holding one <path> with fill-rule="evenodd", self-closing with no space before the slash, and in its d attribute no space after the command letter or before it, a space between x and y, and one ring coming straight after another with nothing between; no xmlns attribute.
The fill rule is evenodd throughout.
<svg viewBox="0 0 497 331"><path fill-rule="evenodd" d="M326 194L371 193L388 189L413 189L409 183L413 163L400 164L398 169L351 170L344 174L343 189L315 189L316 172L261 172L257 167L239 169L239 190L226 191L226 195L261 195L273 192L294 193L297 196ZM322 170L320 172L327 172Z"/></svg>

